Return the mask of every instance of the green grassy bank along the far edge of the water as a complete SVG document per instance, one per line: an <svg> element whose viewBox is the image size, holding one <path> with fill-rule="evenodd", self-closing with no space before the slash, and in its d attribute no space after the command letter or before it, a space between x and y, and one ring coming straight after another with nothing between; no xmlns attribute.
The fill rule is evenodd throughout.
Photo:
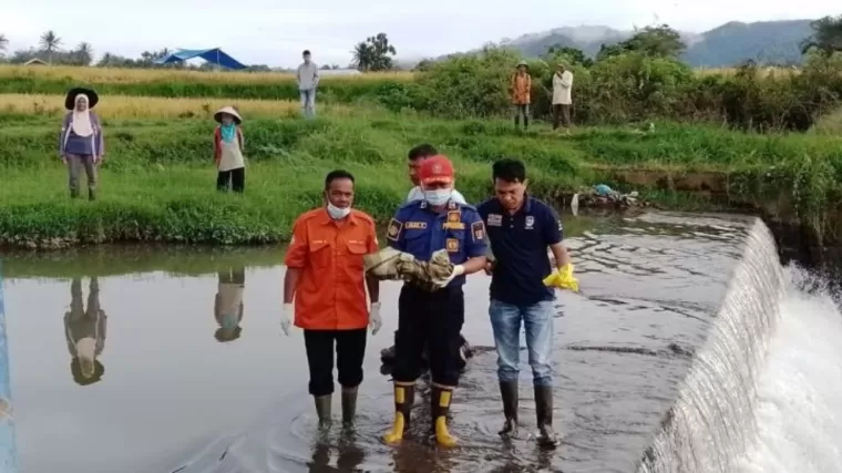
<svg viewBox="0 0 842 473"><path fill-rule="evenodd" d="M504 155L526 161L533 193L547 199L582 185L617 184L622 179L614 171L619 168L672 176L720 173L728 198L785 197L800 218L817 226L824 225L822 212L836 208L842 196L842 142L828 137L661 123L654 133L602 127L564 137L542 127L517 133L507 122L360 110L353 117L249 120L247 191L239 197L213 188L210 132L212 124L201 120L110 121L101 198L89 203L68 198L54 120L6 121L0 127L0 243L284 241L294 218L320 204L324 175L337 167L357 175L358 206L382 222L405 196L405 153L420 142L434 143L454 160L458 187L474 202L487 195L490 164ZM634 189L696 208L709 204L664 187L653 179Z"/></svg>

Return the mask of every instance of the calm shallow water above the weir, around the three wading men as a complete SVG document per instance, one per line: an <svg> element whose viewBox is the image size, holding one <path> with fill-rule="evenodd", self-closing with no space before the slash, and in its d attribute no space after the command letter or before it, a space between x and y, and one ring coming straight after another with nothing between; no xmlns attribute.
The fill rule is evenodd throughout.
<svg viewBox="0 0 842 473"><path fill-rule="evenodd" d="M384 327L369 339L353 434L320 438L300 331L278 325L280 251L80 250L6 257L6 305L18 450L27 473L85 472L627 472L672 400L741 255L745 218L644 214L569 217L582 294L561 295L554 452L534 446L528 368L522 439L504 443L487 278L466 287L464 335L478 348L454 394L461 446L428 440L422 389L411 439L387 448L390 379L379 351L397 326L397 284L382 291ZM577 234L578 235L575 235ZM242 332L219 342L215 271L245 271ZM102 380L71 374L64 316L73 277L97 276L107 320ZM86 302L86 301L85 301ZM391 316L390 316L391 315ZM525 363L525 352L522 362ZM338 400L335 413L339 412Z"/></svg>

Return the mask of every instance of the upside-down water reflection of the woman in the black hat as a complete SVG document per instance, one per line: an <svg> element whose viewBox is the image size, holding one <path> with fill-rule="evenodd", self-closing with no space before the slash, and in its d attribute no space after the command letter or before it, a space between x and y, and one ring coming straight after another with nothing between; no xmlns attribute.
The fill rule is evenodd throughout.
<svg viewBox="0 0 842 473"><path fill-rule="evenodd" d="M105 347L107 318L100 307L100 281L91 278L88 307L82 301L82 278L70 284L70 310L64 312L64 336L73 358L70 372L79 385L93 384L102 379L105 367L96 359Z"/></svg>

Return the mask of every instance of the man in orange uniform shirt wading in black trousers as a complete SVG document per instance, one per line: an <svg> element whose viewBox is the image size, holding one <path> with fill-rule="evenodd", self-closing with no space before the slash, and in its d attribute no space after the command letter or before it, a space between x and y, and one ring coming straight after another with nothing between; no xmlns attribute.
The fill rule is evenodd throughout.
<svg viewBox="0 0 842 473"><path fill-rule="evenodd" d="M342 422L350 425L357 410L357 388L362 382L366 328L370 326L374 335L381 325L380 286L377 279L364 277L362 257L379 248L374 220L351 208L350 173L333 171L327 175L325 199L324 207L305 213L292 227L280 323L287 336L294 319L296 327L304 329L309 391L321 426L330 423L336 342Z"/></svg>

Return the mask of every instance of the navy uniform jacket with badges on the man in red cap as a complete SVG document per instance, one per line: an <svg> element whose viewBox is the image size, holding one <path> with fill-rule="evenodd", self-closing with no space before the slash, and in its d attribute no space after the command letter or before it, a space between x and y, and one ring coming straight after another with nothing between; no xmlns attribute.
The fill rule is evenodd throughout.
<svg viewBox="0 0 842 473"><path fill-rule="evenodd" d="M429 261L434 251L446 248L450 261L461 265L469 258L485 256L489 238L476 208L448 202L446 210L435 213L427 200L404 204L389 222L389 246ZM465 277L454 278L449 287L462 286Z"/></svg>

